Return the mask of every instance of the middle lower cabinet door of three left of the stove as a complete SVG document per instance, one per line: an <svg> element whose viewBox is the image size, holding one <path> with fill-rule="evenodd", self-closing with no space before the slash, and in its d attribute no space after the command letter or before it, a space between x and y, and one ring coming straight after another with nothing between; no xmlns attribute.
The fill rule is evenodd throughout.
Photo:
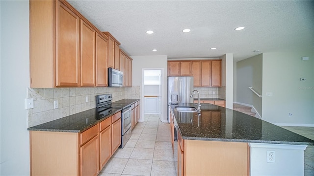
<svg viewBox="0 0 314 176"><path fill-rule="evenodd" d="M110 121L111 123L111 121ZM100 156L100 169L102 170L107 161L111 157L111 125L107 127L105 130L99 133L99 143L100 143L100 150L99 150L99 156Z"/></svg>

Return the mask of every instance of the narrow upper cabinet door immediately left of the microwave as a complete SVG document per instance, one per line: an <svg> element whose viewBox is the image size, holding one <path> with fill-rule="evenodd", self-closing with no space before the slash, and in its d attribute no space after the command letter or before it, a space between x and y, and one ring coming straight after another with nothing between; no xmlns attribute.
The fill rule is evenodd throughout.
<svg viewBox="0 0 314 176"><path fill-rule="evenodd" d="M108 41L96 33L96 86L108 85Z"/></svg>

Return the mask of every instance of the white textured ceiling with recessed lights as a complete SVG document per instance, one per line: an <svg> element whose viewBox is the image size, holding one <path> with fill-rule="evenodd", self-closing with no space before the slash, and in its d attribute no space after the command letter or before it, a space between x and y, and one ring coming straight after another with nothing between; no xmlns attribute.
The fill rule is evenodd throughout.
<svg viewBox="0 0 314 176"><path fill-rule="evenodd" d="M262 52L314 50L314 1L69 0L130 56L239 61ZM238 26L245 29L235 31ZM191 32L183 33L184 28ZM153 30L154 34L146 34ZM210 48L216 47L215 50ZM157 49L157 51L152 51ZM255 53L253 50L260 50Z"/></svg>

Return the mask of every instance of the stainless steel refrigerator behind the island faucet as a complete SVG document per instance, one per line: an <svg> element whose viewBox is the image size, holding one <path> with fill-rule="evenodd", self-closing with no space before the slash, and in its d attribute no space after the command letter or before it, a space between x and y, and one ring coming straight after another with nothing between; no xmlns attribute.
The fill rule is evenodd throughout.
<svg viewBox="0 0 314 176"><path fill-rule="evenodd" d="M171 105L180 103L193 103L190 97L194 88L193 76L168 77L168 109ZM170 109L169 109L170 110ZM168 122L170 120L170 112L168 110Z"/></svg>

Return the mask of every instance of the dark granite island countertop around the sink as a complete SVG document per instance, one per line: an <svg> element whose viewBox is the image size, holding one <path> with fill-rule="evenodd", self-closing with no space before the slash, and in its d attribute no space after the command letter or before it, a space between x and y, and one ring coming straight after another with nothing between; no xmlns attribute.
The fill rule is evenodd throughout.
<svg viewBox="0 0 314 176"><path fill-rule="evenodd" d="M183 139L251 142L291 145L314 145L314 141L259 118L224 107L201 104L201 114L172 112ZM195 107L192 103L180 106Z"/></svg>

